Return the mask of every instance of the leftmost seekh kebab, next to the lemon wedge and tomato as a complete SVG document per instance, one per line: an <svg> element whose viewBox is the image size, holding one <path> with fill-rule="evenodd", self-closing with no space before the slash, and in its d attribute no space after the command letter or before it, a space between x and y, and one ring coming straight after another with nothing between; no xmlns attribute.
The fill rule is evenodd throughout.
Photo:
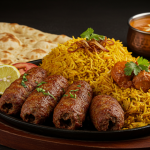
<svg viewBox="0 0 150 150"><path fill-rule="evenodd" d="M24 74L15 80L4 92L0 99L0 111L6 114L15 115L20 112L21 107L36 88L37 82L41 82L47 76L44 69L34 67L26 72L24 86L21 84Z"/></svg>

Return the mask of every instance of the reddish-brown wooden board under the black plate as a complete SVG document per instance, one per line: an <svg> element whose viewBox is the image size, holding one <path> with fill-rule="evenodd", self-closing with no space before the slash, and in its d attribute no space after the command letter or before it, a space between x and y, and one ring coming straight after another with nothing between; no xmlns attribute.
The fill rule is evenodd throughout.
<svg viewBox="0 0 150 150"><path fill-rule="evenodd" d="M150 136L123 141L70 140L33 134L9 126L9 124L2 119L0 121L0 144L18 150L150 149Z"/></svg>

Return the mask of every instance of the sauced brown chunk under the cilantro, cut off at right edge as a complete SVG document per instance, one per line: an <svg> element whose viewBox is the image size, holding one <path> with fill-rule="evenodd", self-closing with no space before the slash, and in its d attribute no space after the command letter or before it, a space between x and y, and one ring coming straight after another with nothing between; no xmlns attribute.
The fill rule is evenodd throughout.
<svg viewBox="0 0 150 150"><path fill-rule="evenodd" d="M147 92L150 89L150 73L145 70L139 72L133 78L133 85L136 89L142 89L144 92Z"/></svg>

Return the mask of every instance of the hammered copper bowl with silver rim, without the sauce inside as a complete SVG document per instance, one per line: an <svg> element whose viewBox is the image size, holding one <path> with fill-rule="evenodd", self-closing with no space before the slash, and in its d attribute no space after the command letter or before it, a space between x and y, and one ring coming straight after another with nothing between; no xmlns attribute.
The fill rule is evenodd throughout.
<svg viewBox="0 0 150 150"><path fill-rule="evenodd" d="M129 19L127 44L128 47L136 54L145 57L150 57L150 32L142 31L131 26L133 21L137 22L137 20L142 20L143 18L150 19L150 12L138 14Z"/></svg>

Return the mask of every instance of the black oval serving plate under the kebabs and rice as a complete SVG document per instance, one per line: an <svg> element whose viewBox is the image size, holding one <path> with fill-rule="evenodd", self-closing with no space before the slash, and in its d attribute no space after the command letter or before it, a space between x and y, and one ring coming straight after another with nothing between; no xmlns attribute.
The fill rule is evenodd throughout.
<svg viewBox="0 0 150 150"><path fill-rule="evenodd" d="M33 63L36 65L39 65L41 62L42 62L42 59L29 61L29 63ZM133 128L133 129L115 130L115 131L69 130L69 129L59 129L59 128L55 128L55 127L51 127L51 126L47 126L47 125L37 125L37 124L28 123L28 122L25 122L21 119L14 117L14 116L4 114L2 112L0 112L0 117L2 117L10 125L13 125L15 127L18 127L20 129L23 129L23 130L31 132L31 133L36 133L36 134L41 134L41 135L56 137L56 138L74 139L74 140L93 141L93 135L96 136L94 138L94 141L127 140L127 139L135 139L135 138L139 138L139 137L142 137L145 135L149 135L147 131L150 132L150 125ZM21 126L19 126L19 125L21 125ZM30 127L30 128L28 128L28 127ZM31 131L32 129L35 131ZM40 129L40 130L37 131L36 129ZM42 133L41 130L44 130L44 133ZM52 133L52 135L51 135L49 132L47 134L47 133L45 133L45 130L46 131L48 130L49 132L51 132L51 131L55 132L56 134ZM67 135L65 135L65 134L59 135L59 133L66 133ZM128 137L129 133L134 133L134 134L132 134L132 135L130 134L130 137ZM68 134L69 134L69 136L68 136ZM71 137L70 134L73 136ZM78 137L80 134L82 136ZM83 134L85 134L85 136L83 136ZM121 134L125 137L120 137ZM90 137L86 137L86 135L88 135ZM111 136L113 136L113 138L107 137L107 135L108 136L111 135ZM101 137L101 136L103 136L103 137Z"/></svg>

